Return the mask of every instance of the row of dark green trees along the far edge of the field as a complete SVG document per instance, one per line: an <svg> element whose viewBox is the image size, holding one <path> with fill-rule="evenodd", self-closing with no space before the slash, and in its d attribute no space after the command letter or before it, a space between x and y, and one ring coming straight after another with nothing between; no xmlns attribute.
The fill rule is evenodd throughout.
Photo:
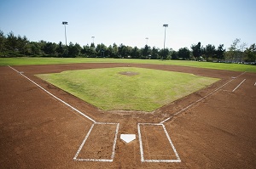
<svg viewBox="0 0 256 169"><path fill-rule="evenodd" d="M194 59L198 61L217 62L255 62L256 45L253 43L246 48L246 43L236 39L229 50L224 49L224 44L216 48L212 44L203 47L201 42L192 44L189 48L179 48L177 51L172 48L151 48L145 45L143 48L125 46L116 43L108 47L103 43L95 45L84 45L70 42L67 46L62 42L30 42L26 36L15 36L14 32L4 35L0 30L0 57L60 57L60 58L131 58L131 59Z"/></svg>

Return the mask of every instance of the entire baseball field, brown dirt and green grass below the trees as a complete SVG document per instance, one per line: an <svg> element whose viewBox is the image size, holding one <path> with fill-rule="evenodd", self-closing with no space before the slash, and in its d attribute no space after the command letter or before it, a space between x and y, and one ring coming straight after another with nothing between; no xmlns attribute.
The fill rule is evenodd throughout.
<svg viewBox="0 0 256 169"><path fill-rule="evenodd" d="M0 168L256 166L254 65L0 61Z"/></svg>

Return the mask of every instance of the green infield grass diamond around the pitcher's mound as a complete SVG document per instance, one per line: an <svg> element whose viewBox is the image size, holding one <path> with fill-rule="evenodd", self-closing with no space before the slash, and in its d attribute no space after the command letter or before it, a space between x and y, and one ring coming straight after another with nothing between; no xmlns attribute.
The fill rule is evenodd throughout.
<svg viewBox="0 0 256 169"><path fill-rule="evenodd" d="M119 72L138 75L126 76ZM218 79L166 70L108 68L37 75L102 110L152 111Z"/></svg>

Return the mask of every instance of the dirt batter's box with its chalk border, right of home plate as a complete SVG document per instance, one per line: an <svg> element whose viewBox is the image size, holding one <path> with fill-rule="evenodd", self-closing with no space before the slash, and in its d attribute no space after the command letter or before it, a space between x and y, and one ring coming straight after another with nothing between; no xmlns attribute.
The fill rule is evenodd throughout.
<svg viewBox="0 0 256 169"><path fill-rule="evenodd" d="M181 162L166 127L160 123L138 123L142 162Z"/></svg>

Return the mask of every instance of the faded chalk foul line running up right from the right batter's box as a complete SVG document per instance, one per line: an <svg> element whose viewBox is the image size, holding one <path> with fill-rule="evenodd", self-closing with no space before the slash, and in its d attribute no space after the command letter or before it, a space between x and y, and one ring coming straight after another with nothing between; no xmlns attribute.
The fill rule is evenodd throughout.
<svg viewBox="0 0 256 169"><path fill-rule="evenodd" d="M243 75L243 74L245 74L245 73L246 73L246 71L243 72L243 73L241 73L239 76L241 76L241 75ZM194 103L189 104L187 107L183 108L182 110L177 111L175 114L173 114L173 115L171 115L170 117L166 118L166 120L161 121L160 124L163 124L164 122L169 121L170 119L172 119L173 116L179 115L179 114L182 113L184 110L187 110L187 109L189 109L189 107L191 107L191 106L193 106L194 104L200 102L202 99L206 99L208 96L212 95L212 93L216 93L219 89L221 89L222 87L226 86L227 84L229 84L230 82L232 82L233 80L235 80L235 79L236 79L237 77L239 77L239 76L236 76L235 78L232 78L229 82L224 83L224 85L222 85L222 86L216 88L216 89L213 90L211 93L208 93L206 96L204 96L203 98L198 99L198 100L196 100ZM244 80L244 81L245 81L245 80ZM243 82L244 82L244 81L243 81ZM239 85L239 86L240 86L240 85ZM238 87L239 87L239 86L238 86ZM232 92L234 92L234 91L232 91Z"/></svg>

